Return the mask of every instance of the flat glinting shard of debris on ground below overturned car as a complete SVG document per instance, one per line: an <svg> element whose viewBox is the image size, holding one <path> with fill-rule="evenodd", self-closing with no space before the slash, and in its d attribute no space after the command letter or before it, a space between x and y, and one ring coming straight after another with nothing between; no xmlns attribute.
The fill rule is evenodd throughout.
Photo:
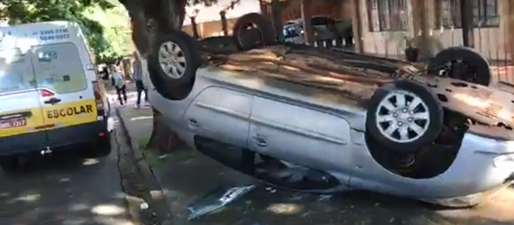
<svg viewBox="0 0 514 225"><path fill-rule="evenodd" d="M251 192L255 187L256 185L254 184L231 187L219 186L205 197L188 205L190 212L188 220L198 219L201 216L221 209L223 206Z"/></svg>

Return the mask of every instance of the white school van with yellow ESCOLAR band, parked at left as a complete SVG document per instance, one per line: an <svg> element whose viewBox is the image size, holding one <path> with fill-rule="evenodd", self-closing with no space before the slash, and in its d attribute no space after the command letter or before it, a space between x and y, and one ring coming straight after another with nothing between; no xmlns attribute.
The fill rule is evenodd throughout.
<svg viewBox="0 0 514 225"><path fill-rule="evenodd" d="M0 165L70 146L110 151L108 108L76 23L0 27ZM101 91L102 90L102 91ZM94 145L90 145L94 144ZM83 148L82 148L83 149Z"/></svg>

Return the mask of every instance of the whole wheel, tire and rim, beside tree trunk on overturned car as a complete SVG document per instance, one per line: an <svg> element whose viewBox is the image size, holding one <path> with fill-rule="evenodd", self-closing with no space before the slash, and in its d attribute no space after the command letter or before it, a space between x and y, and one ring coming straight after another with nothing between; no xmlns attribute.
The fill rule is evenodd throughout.
<svg viewBox="0 0 514 225"><path fill-rule="evenodd" d="M171 30L158 36L148 60L155 90L170 100L187 97L199 65L196 41L181 30Z"/></svg>

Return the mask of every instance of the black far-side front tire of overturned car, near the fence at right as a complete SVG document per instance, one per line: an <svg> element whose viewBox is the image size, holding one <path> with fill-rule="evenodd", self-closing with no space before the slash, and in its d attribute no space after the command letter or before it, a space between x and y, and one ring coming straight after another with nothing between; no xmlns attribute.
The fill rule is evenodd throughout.
<svg viewBox="0 0 514 225"><path fill-rule="evenodd" d="M455 69L457 62L465 66L465 74L456 74L451 71ZM446 66L445 66L446 65ZM491 82L491 69L489 62L475 49L457 46L449 47L439 51L428 63L429 74L440 75L442 67L446 67L448 77L488 86Z"/></svg>

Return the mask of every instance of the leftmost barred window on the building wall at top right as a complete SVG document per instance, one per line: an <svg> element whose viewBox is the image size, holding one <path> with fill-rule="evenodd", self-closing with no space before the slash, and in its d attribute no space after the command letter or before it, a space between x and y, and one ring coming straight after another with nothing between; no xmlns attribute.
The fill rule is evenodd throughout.
<svg viewBox="0 0 514 225"><path fill-rule="evenodd" d="M409 29L407 0L368 0L370 31Z"/></svg>

